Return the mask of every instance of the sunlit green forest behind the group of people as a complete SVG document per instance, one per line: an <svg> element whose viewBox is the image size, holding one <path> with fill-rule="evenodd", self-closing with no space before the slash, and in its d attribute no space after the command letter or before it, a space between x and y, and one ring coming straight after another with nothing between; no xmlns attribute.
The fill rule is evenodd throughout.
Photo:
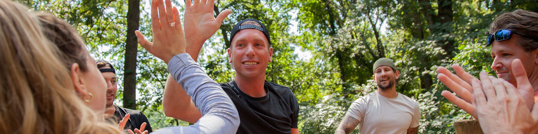
<svg viewBox="0 0 538 134"><path fill-rule="evenodd" d="M166 64L137 44L134 30L151 35L149 1L15 0L52 13L79 31L92 56L114 64L116 105L143 111L152 128L189 125L166 117L162 93ZM184 0L173 1L182 12ZM266 80L291 88L300 104L301 133L333 133L347 108L377 90L372 65L394 59L401 75L397 91L420 103L420 133L454 133L452 123L472 118L443 96L438 66L460 64L472 75L490 68L485 47L489 25L501 13L538 11L529 0L217 0L215 16L233 13L204 44L200 65L226 83L234 71L226 58L231 28L254 18L270 31L273 62ZM180 13L182 15L182 13ZM353 131L358 133L358 129Z"/></svg>

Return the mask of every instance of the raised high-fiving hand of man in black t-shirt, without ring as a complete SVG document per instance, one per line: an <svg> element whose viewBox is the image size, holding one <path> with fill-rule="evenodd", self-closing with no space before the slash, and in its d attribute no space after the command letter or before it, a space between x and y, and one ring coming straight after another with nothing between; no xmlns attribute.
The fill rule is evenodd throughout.
<svg viewBox="0 0 538 134"><path fill-rule="evenodd" d="M194 3L190 0L185 1L183 23L185 24L185 39L189 45L187 53L195 60L203 43L221 27L224 18L232 12L229 9L224 10L215 18L214 5L214 0L194 0Z"/></svg>

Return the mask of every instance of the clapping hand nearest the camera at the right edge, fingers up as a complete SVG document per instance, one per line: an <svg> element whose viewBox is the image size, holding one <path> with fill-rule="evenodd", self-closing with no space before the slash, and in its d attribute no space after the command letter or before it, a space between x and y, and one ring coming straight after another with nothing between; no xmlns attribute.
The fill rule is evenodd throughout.
<svg viewBox="0 0 538 134"><path fill-rule="evenodd" d="M486 72L480 73L480 81L472 82L473 105L484 133L536 133L538 130L535 127L538 110L534 107L531 114L527 106L534 101L528 102L521 95L523 91L533 90L527 73L519 59L512 61L512 69L519 89L505 80L487 76Z"/></svg>

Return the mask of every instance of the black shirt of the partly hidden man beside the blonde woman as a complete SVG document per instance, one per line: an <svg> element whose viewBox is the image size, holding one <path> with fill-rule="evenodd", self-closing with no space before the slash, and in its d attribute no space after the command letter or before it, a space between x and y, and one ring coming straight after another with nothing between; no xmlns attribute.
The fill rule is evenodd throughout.
<svg viewBox="0 0 538 134"><path fill-rule="evenodd" d="M147 120L146 115L144 115L144 113L142 113L141 111L122 108L122 107L118 107L116 105L114 105L114 107L116 108L116 111L114 111L114 116L111 116L110 118L107 118L107 122L115 121L115 122L112 122L112 123L113 124L118 124L119 121L122 121L122 118L125 115L131 114L131 116L129 117L129 120L127 121L127 123L125 123L125 128L124 128L124 131L123 131L124 133L128 133L126 131L127 129L130 129L133 132L134 132L134 129L140 129L140 125L142 125L142 123L144 123L144 122L146 123L146 128L144 130L147 130L148 132L153 132L151 130L150 121Z"/></svg>

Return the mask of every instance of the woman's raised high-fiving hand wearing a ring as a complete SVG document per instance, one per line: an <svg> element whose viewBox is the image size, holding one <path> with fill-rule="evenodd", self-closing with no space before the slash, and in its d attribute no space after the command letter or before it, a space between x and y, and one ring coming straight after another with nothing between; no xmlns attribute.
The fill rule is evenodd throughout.
<svg viewBox="0 0 538 134"><path fill-rule="evenodd" d="M165 9L166 4L166 9ZM147 41L140 31L136 31L138 43L148 52L165 61L185 53L185 34L181 28L178 9L172 8L172 2L153 0L151 2L151 28L153 42Z"/></svg>

